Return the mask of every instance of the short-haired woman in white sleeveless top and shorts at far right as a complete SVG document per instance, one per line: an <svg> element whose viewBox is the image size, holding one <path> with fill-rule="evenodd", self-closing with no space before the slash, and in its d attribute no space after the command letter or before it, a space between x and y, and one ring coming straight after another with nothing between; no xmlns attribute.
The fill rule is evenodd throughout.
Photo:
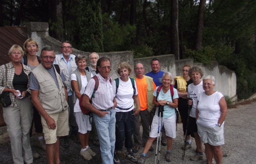
<svg viewBox="0 0 256 164"><path fill-rule="evenodd" d="M221 145L224 144L224 120L227 116L227 104L220 92L213 90L215 78L204 77L205 92L198 95L196 109L196 124L198 134L205 145L207 163L212 163L212 155L216 163L222 163Z"/></svg>

